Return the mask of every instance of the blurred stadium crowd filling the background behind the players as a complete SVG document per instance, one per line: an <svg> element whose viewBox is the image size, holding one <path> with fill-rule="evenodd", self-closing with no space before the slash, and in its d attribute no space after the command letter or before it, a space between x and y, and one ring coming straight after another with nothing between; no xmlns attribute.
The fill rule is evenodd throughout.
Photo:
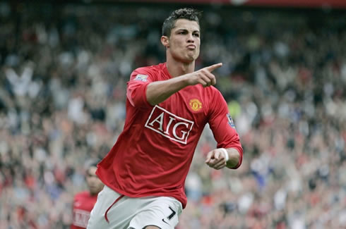
<svg viewBox="0 0 346 229"><path fill-rule="evenodd" d="M1 229L69 227L131 71L165 61L163 20L191 6L244 161L205 166L205 128L177 228L346 228L346 1L85 0L0 3Z"/></svg>

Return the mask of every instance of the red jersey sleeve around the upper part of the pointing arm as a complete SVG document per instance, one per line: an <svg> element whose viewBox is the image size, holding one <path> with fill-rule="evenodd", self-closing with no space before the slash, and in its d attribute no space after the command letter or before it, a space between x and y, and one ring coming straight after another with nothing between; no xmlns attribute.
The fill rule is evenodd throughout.
<svg viewBox="0 0 346 229"><path fill-rule="evenodd" d="M131 73L129 82L127 82L126 97L134 107L148 107L146 90L148 84L153 82L153 74L144 68L138 68Z"/></svg>

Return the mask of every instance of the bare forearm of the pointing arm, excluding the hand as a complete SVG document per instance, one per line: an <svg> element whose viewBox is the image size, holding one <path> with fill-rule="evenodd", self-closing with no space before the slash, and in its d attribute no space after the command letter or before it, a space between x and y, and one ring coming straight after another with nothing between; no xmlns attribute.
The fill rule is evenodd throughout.
<svg viewBox="0 0 346 229"><path fill-rule="evenodd" d="M187 75L181 75L169 80L150 82L145 95L148 103L155 106L186 86L189 86Z"/></svg>

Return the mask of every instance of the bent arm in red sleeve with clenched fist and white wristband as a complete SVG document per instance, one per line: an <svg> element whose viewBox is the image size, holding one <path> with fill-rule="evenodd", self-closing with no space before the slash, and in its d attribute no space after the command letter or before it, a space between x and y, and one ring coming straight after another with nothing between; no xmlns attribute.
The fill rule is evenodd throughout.
<svg viewBox="0 0 346 229"><path fill-rule="evenodd" d="M239 135L229 115L227 103L217 91L216 101L210 105L209 125L217 142L217 149L207 155L205 163L211 168L239 168L243 159Z"/></svg>

